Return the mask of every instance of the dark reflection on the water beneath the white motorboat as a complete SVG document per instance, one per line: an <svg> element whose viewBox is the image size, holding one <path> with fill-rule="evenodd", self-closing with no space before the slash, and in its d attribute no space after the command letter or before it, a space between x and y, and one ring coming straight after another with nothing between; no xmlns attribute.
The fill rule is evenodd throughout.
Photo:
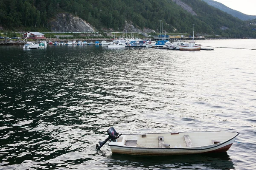
<svg viewBox="0 0 256 170"><path fill-rule="evenodd" d="M121 167L141 167L145 169L234 169L227 153L177 156L138 156L113 154L109 167L118 164Z"/></svg>

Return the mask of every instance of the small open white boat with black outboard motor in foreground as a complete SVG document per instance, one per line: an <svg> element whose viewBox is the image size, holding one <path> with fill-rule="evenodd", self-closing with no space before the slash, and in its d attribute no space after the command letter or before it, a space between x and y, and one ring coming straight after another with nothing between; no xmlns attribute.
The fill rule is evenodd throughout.
<svg viewBox="0 0 256 170"><path fill-rule="evenodd" d="M107 130L108 138L96 144L100 149L106 142L112 153L131 155L186 155L227 152L238 132L178 132L120 134L114 127Z"/></svg>

